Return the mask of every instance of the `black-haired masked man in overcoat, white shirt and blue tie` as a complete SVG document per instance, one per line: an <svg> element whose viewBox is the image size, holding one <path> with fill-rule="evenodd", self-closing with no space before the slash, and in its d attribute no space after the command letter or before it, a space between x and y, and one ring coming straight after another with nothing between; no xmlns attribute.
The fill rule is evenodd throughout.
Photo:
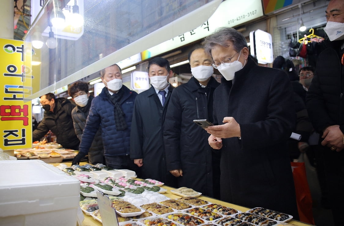
<svg viewBox="0 0 344 226"><path fill-rule="evenodd" d="M155 179L174 187L175 179L166 169L162 126L173 86L168 60L156 57L148 63L151 87L137 95L130 131L130 158L141 167L142 178Z"/></svg>

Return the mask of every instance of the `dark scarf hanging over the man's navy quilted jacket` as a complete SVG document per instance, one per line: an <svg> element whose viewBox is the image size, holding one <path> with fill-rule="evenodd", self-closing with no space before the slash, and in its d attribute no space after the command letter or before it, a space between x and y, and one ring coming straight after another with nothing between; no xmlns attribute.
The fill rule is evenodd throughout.
<svg viewBox="0 0 344 226"><path fill-rule="evenodd" d="M111 101L112 104L114 104L115 108L115 125L116 125L116 130L125 130L128 128L126 119L125 119L125 114L123 112L123 109L121 107L121 105L119 104L119 101L122 99L123 97L123 89L121 88L117 93L114 94L110 94L107 91L105 91L106 96L109 98L109 100Z"/></svg>

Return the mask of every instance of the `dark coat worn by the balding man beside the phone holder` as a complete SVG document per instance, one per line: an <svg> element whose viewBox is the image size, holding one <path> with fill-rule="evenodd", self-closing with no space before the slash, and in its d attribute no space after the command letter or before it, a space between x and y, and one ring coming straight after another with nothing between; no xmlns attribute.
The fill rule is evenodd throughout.
<svg viewBox="0 0 344 226"><path fill-rule="evenodd" d="M208 105L212 105L212 95L218 85L212 77L207 94L194 78L176 87L163 131L167 170L183 170L183 176L178 177L178 187L192 188L210 196L213 195L213 149L208 144L209 134L193 120L209 119ZM207 95L211 96L207 98Z"/></svg>

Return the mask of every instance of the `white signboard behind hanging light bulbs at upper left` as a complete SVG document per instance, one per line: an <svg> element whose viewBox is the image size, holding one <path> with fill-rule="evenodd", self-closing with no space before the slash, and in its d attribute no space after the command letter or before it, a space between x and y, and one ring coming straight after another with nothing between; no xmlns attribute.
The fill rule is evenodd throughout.
<svg viewBox="0 0 344 226"><path fill-rule="evenodd" d="M45 2L47 0L31 0L31 23L36 19L39 15L39 12L43 8ZM84 34L84 26L81 27L73 27L72 23L72 14L73 14L73 6L75 4L75 0L70 0L64 8L62 8L62 12L65 16L65 26L62 28L53 28L53 32L56 38L62 39L69 39L69 40L77 40ZM79 7L79 14L84 16L84 0L77 0L76 5ZM50 27L47 26L44 28L44 32L42 33L43 36L49 37Z"/></svg>

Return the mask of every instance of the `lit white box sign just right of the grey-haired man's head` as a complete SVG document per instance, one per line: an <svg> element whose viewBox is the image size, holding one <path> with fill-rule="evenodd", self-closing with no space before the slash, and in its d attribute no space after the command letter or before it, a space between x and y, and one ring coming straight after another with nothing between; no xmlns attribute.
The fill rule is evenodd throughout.
<svg viewBox="0 0 344 226"><path fill-rule="evenodd" d="M272 36L270 33L260 29L250 32L250 43L251 55L257 57L258 63L273 62Z"/></svg>

